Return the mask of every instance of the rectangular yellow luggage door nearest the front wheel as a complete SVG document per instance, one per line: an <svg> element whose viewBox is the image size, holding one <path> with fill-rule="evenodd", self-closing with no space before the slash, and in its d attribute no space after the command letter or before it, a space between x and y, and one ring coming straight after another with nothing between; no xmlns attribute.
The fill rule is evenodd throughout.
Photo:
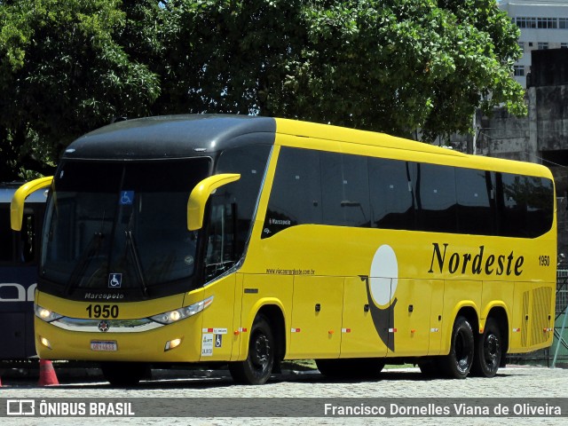
<svg viewBox="0 0 568 426"><path fill-rule="evenodd" d="M294 277L290 354L337 358L341 345L343 277Z"/></svg>

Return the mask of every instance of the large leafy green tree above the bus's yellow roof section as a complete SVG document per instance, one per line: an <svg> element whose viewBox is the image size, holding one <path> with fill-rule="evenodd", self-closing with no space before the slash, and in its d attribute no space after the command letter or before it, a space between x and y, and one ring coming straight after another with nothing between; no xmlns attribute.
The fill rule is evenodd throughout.
<svg viewBox="0 0 568 426"><path fill-rule="evenodd" d="M400 136L421 129L427 141L468 132L477 106L525 114L512 78L518 28L494 0L162 3L165 65L151 66L165 89L158 114L279 115Z"/></svg>

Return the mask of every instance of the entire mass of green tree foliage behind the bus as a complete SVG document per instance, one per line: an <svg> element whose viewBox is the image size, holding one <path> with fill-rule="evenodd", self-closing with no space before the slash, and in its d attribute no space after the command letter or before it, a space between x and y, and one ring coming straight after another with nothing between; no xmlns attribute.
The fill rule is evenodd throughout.
<svg viewBox="0 0 568 426"><path fill-rule="evenodd" d="M477 106L525 113L518 29L495 0L18 0L0 2L0 28L0 157L16 171L120 116L432 140L469 131Z"/></svg>

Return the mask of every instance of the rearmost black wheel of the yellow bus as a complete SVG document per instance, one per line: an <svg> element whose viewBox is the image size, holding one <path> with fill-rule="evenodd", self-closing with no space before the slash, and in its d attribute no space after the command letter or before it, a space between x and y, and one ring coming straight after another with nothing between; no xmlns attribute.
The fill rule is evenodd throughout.
<svg viewBox="0 0 568 426"><path fill-rule="evenodd" d="M501 331L497 322L492 318L487 319L483 334L477 336L471 374L479 377L496 375L501 364L502 351Z"/></svg>

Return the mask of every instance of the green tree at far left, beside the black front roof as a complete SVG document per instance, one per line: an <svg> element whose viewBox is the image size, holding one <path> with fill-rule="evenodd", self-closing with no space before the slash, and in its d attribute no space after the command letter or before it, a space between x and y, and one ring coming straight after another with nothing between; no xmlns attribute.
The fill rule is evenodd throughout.
<svg viewBox="0 0 568 426"><path fill-rule="evenodd" d="M157 75L116 43L120 0L14 0L0 4L0 180L47 174L87 130L144 115Z"/></svg>

